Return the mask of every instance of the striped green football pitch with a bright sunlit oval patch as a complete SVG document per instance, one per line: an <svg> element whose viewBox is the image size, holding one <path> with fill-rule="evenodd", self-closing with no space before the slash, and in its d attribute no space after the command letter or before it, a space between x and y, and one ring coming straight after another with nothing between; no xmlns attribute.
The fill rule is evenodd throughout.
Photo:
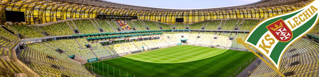
<svg viewBox="0 0 319 77"><path fill-rule="evenodd" d="M86 63L85 67L105 77L236 77L237 69L241 67L239 74L254 56L246 51L180 45Z"/></svg>

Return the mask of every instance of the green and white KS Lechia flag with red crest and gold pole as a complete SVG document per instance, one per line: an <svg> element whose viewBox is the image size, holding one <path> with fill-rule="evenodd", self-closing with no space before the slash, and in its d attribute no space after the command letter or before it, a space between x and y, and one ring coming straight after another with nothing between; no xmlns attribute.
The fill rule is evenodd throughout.
<svg viewBox="0 0 319 77"><path fill-rule="evenodd" d="M263 60L256 52L251 50L256 56L262 59L268 66L277 73L279 71L280 60L287 50L296 40L303 37L315 27L318 21L319 0L314 0L308 5L285 14L273 16L259 22L254 27L246 39L237 39L239 44L246 44L258 50L275 66L272 67ZM283 76L283 75L282 75Z"/></svg>

